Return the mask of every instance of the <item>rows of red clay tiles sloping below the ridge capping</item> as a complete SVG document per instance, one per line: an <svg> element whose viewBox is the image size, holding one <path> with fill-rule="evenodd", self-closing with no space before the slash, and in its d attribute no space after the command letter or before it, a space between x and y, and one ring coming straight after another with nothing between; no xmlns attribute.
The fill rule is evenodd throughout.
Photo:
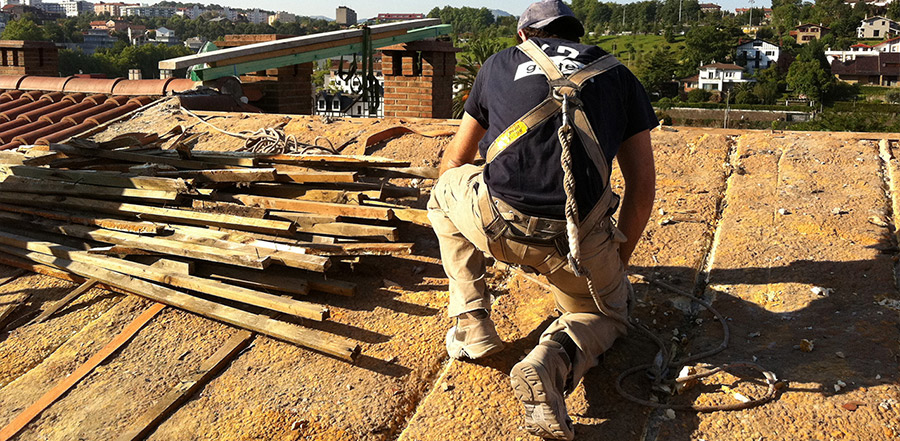
<svg viewBox="0 0 900 441"><path fill-rule="evenodd" d="M149 96L127 94L0 90L0 150L59 142L152 101Z"/></svg>

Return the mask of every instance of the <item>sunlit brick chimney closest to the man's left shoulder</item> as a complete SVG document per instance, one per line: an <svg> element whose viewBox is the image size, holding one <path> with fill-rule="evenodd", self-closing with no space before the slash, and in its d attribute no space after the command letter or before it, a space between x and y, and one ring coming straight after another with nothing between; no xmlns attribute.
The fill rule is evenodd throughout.
<svg viewBox="0 0 900 441"><path fill-rule="evenodd" d="M452 117L460 49L446 41L414 41L381 50L384 116Z"/></svg>

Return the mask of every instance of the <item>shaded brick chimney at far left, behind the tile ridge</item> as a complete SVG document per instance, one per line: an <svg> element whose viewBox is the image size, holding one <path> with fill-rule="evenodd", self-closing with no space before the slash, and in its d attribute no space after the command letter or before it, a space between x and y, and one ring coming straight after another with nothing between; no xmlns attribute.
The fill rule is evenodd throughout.
<svg viewBox="0 0 900 441"><path fill-rule="evenodd" d="M59 76L59 51L47 41L0 40L0 75Z"/></svg>

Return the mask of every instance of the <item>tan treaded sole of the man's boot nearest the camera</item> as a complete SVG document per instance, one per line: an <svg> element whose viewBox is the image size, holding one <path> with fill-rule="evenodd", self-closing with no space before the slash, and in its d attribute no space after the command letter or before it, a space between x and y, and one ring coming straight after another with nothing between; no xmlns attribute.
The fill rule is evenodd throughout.
<svg viewBox="0 0 900 441"><path fill-rule="evenodd" d="M544 439L575 438L565 398L552 386L544 386L552 382L543 366L519 362L509 376L513 393L525 406L525 430Z"/></svg>

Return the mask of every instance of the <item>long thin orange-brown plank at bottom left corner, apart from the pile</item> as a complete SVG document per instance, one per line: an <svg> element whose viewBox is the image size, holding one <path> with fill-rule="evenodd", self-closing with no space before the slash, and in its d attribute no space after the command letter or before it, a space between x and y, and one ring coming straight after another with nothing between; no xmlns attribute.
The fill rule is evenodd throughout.
<svg viewBox="0 0 900 441"><path fill-rule="evenodd" d="M119 350L125 343L128 343L141 328L144 327L156 314L163 310L165 305L155 303L153 306L144 311L134 321L128 324L119 335L112 339L103 349L94 354L88 361L75 369L61 382L57 383L53 388L47 391L41 398L28 406L22 413L18 414L5 427L0 429L0 441L9 441L10 438L16 436L19 431L25 428L31 420L41 414L47 407L53 404L61 396L63 396L72 386L75 386L82 378L87 376L97 366L103 363L110 355Z"/></svg>

